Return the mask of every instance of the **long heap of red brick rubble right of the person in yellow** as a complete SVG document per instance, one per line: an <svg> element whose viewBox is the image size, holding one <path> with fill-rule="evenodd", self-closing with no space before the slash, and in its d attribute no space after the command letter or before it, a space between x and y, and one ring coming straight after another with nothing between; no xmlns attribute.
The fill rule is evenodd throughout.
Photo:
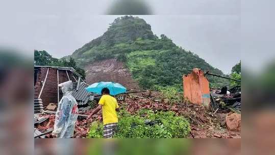
<svg viewBox="0 0 275 155"><path fill-rule="evenodd" d="M170 105L157 96L151 97L125 95L119 105L133 115L141 109L153 111L173 111L178 116L189 118L191 133L189 138L240 138L240 131L227 130L226 117L232 112L209 112L206 107L182 102ZM221 130L224 128L224 130Z"/></svg>

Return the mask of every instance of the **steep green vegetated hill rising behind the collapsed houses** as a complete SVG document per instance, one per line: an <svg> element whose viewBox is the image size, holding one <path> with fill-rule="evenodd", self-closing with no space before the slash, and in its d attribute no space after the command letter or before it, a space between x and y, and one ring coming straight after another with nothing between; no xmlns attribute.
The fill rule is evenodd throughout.
<svg viewBox="0 0 275 155"><path fill-rule="evenodd" d="M132 16L115 19L102 36L77 49L70 57L81 67L95 61L117 58L146 89L170 86L181 90L182 75L195 67L223 75L222 71L191 51L177 46L165 35L154 35L151 25ZM211 86L228 85L228 81L213 78L209 77Z"/></svg>

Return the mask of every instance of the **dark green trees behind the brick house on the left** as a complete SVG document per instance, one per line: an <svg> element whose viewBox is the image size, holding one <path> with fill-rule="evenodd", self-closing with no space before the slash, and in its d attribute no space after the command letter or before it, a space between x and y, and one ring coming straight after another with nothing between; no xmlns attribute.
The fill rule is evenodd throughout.
<svg viewBox="0 0 275 155"><path fill-rule="evenodd" d="M65 59L53 58L45 50L34 50L34 65L72 67L82 75L83 79L86 77L85 70L78 67L74 59L69 58L69 60L66 61Z"/></svg>

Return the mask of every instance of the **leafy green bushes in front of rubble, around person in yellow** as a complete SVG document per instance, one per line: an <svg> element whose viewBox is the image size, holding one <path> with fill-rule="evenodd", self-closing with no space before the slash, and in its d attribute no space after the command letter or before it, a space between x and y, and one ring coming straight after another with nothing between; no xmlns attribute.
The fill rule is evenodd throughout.
<svg viewBox="0 0 275 155"><path fill-rule="evenodd" d="M122 110L118 116L114 138L186 138L190 133L187 119L175 116L173 112L141 110L138 115L130 115ZM93 123L88 138L102 138L102 130L101 125Z"/></svg>

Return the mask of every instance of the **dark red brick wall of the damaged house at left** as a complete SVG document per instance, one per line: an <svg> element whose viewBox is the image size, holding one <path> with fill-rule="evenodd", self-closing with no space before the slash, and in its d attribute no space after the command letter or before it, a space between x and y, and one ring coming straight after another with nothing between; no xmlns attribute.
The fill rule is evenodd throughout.
<svg viewBox="0 0 275 155"><path fill-rule="evenodd" d="M37 82L35 85L35 93L34 97L37 98L40 90L42 88L42 83L41 81L45 80L45 76L47 73L46 67L41 67L39 68L37 72ZM59 84L68 81L68 76L65 70L58 70L59 71ZM72 72L68 71L70 80L74 82L74 79L72 77ZM77 77L76 77L77 78ZM44 89L42 91L42 94L40 98L42 99L43 106L47 106L50 103L56 103L58 102L58 83L57 83L57 69L49 68L48 70L48 76L47 80L44 86ZM62 97L62 92L59 90L59 97L61 99Z"/></svg>

